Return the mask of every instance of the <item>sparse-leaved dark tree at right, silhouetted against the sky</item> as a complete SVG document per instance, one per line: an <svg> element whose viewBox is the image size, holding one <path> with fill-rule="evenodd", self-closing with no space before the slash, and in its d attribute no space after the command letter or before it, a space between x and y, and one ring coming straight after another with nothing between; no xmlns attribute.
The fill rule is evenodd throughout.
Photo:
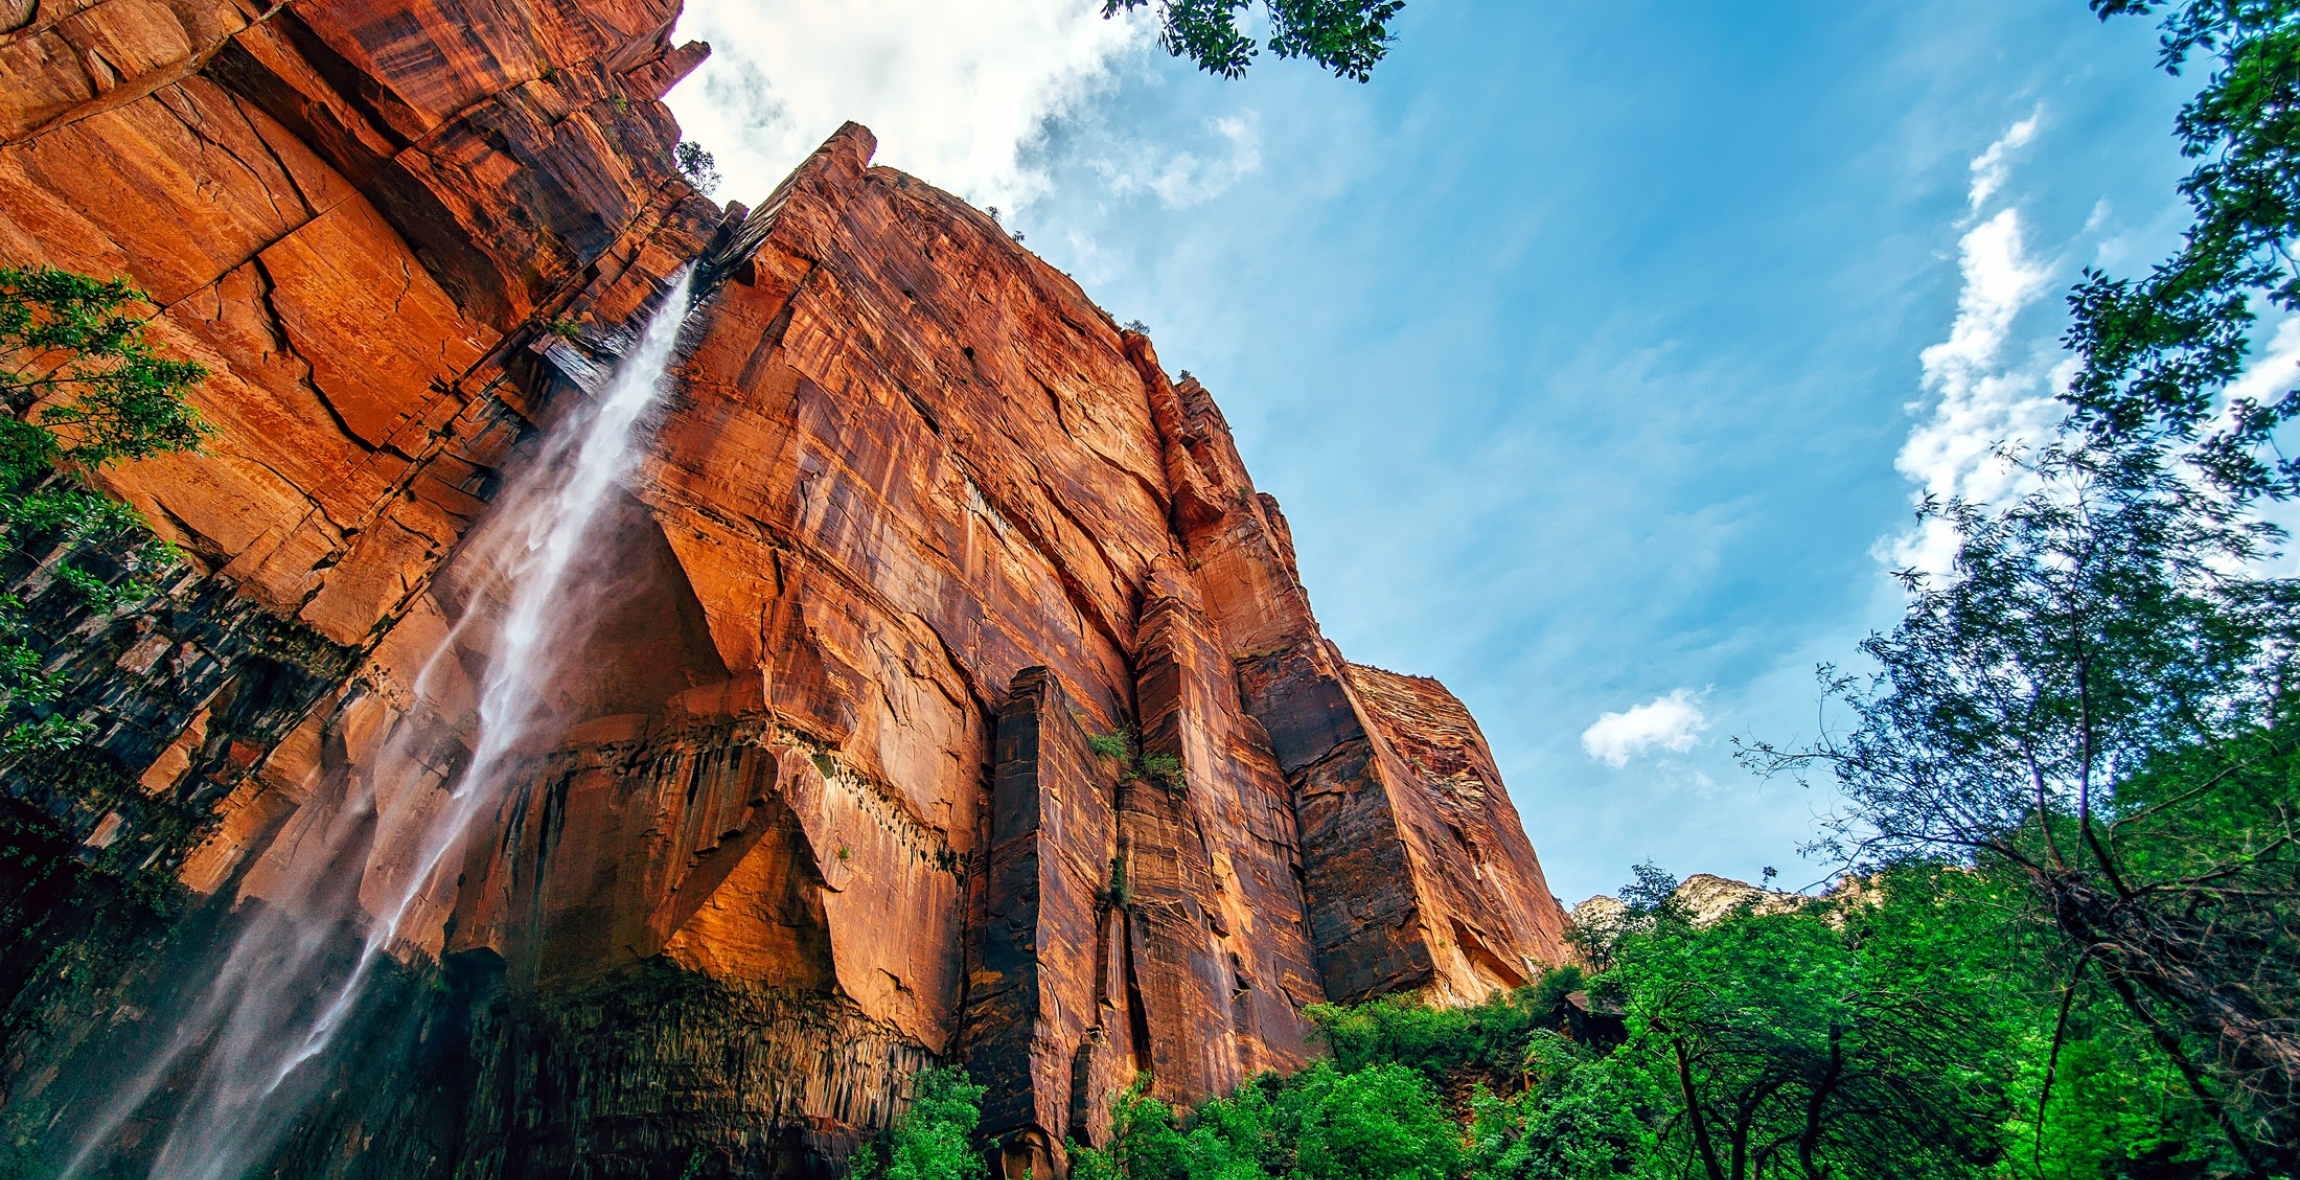
<svg viewBox="0 0 2300 1180"><path fill-rule="evenodd" d="M1955 570L1904 573L1874 676L1824 674L1849 731L1748 759L1833 771L1856 867L2015 872L2068 987L2098 973L2245 1168L2288 1171L2300 858L2291 796L2247 784L2291 752L2300 584L2254 577L2277 534L2153 439L2079 421L2026 474L2001 511L1925 506Z"/></svg>

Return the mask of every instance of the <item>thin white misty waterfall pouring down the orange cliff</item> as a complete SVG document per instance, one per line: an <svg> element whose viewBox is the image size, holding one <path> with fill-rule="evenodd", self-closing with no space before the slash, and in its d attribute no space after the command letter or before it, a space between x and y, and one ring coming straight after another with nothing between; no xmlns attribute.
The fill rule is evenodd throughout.
<svg viewBox="0 0 2300 1180"><path fill-rule="evenodd" d="M152 1162L154 1180L237 1180L308 1106L322 1070L306 1065L352 1021L409 918L453 890L437 879L439 867L471 823L497 810L522 759L564 725L545 688L616 591L614 564L586 550L635 465L639 423L667 384L688 301L690 271L681 269L607 386L545 437L458 554L458 568L476 570L474 600L414 688L419 704L432 699L458 644L483 639L476 718L400 725L334 807L315 796L297 812L278 840L297 849L299 876L246 918L166 1042L94 1116L67 1180L101 1164L166 1081L182 1088L182 1102ZM455 773L423 757L442 743L437 725L458 725L469 745ZM345 955L343 932L361 920L359 952Z"/></svg>

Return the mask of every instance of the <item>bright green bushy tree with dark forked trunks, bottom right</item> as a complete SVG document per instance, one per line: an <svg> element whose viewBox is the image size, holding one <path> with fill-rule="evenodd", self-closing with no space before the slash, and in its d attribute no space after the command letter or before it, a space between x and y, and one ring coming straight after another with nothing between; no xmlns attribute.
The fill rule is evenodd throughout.
<svg viewBox="0 0 2300 1180"><path fill-rule="evenodd" d="M1828 913L1822 913L1822 911ZM1665 1155L1707 1180L1980 1175L1999 1155L2001 1040L1914 890L1872 906L1661 909L1598 989L1628 1017L1612 1070L1665 1095Z"/></svg>

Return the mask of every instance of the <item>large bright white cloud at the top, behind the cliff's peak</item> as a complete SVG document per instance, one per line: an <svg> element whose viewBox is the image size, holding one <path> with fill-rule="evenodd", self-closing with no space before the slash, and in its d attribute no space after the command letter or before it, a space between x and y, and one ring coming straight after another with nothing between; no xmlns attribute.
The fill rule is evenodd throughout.
<svg viewBox="0 0 2300 1180"><path fill-rule="evenodd" d="M1143 9L1104 21L1099 0L690 0L678 37L711 41L669 106L718 156L720 200L757 205L856 120L879 163L1021 207L1046 184L1023 147L1152 28Z"/></svg>

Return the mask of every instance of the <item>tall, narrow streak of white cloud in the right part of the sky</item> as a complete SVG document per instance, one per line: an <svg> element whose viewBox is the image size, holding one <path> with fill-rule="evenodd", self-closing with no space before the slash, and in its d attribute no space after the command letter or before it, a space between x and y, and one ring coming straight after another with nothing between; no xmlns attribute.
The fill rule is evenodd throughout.
<svg viewBox="0 0 2300 1180"><path fill-rule="evenodd" d="M1971 163L1973 223L1957 242L1957 322L1948 338L1918 359L1925 391L1937 398L1925 423L1909 432L1895 467L1937 497L1996 504L2019 490L2019 474L1994 460L2001 442L2035 442L2052 432L2061 409L2054 393L2068 380L2068 359L2022 350L2006 359L2015 324L2052 285L2052 267L2031 258L2017 207L1983 216L2010 175L2008 154L2035 136L2038 115L2012 124ZM1946 573L1953 538L1941 522L1911 529L1888 550L1897 566Z"/></svg>

